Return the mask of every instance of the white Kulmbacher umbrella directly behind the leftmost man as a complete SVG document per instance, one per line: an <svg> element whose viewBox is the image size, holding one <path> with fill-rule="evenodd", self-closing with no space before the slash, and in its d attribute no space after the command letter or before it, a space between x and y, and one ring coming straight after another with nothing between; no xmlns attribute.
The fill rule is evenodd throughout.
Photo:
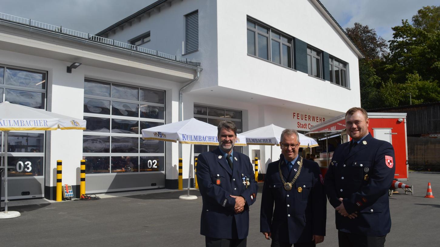
<svg viewBox="0 0 440 247"><path fill-rule="evenodd" d="M144 140L191 144L190 157L194 144L219 145L217 127L195 118L143 129L142 138ZM245 136L237 134L237 142L235 142L235 145L246 146ZM188 194L187 196L179 196L180 199L197 199L197 196L190 196L191 160L189 167Z"/></svg>

